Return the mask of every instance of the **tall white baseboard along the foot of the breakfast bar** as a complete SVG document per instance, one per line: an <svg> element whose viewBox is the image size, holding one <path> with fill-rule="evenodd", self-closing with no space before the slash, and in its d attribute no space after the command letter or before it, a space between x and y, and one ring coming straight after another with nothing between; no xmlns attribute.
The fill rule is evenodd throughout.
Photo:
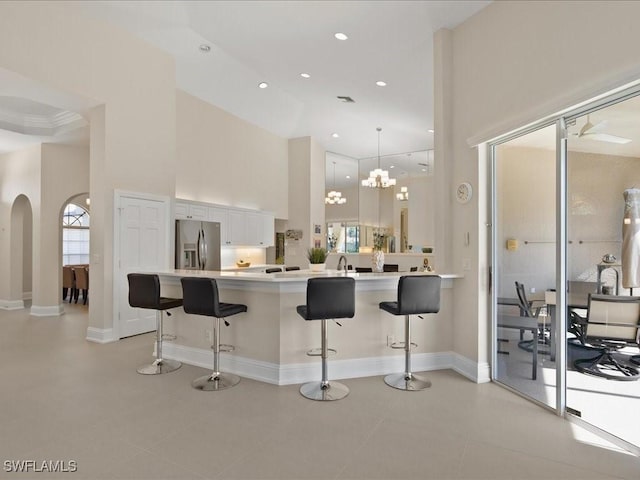
<svg viewBox="0 0 640 480"><path fill-rule="evenodd" d="M165 358L179 360L198 367L213 368L211 349L187 347L167 342L163 345L162 351ZM453 369L474 382L481 378L478 373L481 369L474 362L453 352L416 353L411 356L411 364L416 372ZM386 375L401 372L403 368L404 355L331 360L331 378L338 380ZM319 359L312 363L277 365L223 353L220 355L220 369L274 385L299 384L319 380L321 377Z"/></svg>

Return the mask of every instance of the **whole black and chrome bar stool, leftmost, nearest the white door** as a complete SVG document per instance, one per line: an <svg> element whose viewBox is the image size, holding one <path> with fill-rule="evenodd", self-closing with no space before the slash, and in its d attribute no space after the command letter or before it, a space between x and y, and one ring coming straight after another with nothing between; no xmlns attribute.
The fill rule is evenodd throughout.
<svg viewBox="0 0 640 480"><path fill-rule="evenodd" d="M129 273L129 305L134 308L147 308L156 311L156 359L151 365L138 368L142 375L158 375L177 370L182 365L176 360L162 358L162 313L170 308L182 305L180 298L160 296L160 279L157 275L147 273ZM171 315L167 312L167 315Z"/></svg>

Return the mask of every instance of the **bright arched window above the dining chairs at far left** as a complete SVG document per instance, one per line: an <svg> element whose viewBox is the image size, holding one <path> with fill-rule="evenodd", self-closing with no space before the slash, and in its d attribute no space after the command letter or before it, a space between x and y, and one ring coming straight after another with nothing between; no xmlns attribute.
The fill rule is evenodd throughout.
<svg viewBox="0 0 640 480"><path fill-rule="evenodd" d="M70 203L62 214L62 264L89 263L89 212Z"/></svg>

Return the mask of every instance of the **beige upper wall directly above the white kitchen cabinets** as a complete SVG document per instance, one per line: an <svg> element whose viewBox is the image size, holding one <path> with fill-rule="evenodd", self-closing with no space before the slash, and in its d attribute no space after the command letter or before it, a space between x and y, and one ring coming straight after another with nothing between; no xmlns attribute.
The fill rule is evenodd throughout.
<svg viewBox="0 0 640 480"><path fill-rule="evenodd" d="M176 196L287 218L287 139L181 90L176 102Z"/></svg>

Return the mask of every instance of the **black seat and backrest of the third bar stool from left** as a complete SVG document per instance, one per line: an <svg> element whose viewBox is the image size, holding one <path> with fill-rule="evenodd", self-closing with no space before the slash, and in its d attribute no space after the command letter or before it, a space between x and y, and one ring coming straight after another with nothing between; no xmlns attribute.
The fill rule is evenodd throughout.
<svg viewBox="0 0 640 480"><path fill-rule="evenodd" d="M356 313L356 282L351 277L310 278L307 304L296 311L305 320L353 318Z"/></svg>

